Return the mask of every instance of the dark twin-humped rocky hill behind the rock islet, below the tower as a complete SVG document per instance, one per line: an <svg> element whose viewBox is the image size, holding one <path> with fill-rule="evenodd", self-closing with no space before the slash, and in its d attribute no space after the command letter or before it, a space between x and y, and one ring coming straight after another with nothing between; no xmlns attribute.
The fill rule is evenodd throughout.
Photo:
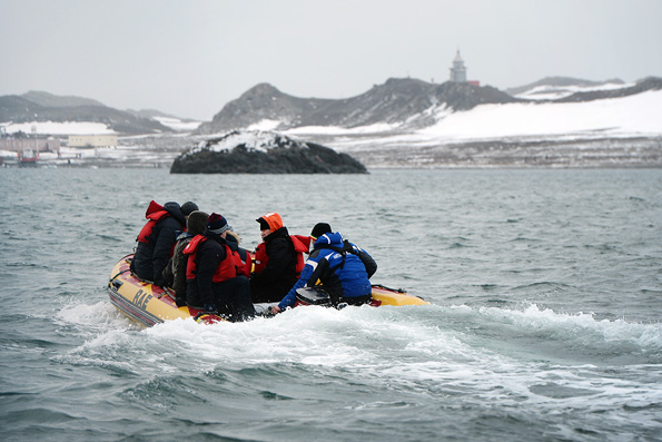
<svg viewBox="0 0 662 442"><path fill-rule="evenodd" d="M392 78L347 99L297 98L261 84L228 102L198 131L216 134L247 128L263 120L277 121L276 128L280 130L303 126L357 127L405 121L416 127L432 122L431 109L445 106L468 110L487 102L514 101L517 99L490 86L449 81L435 85L409 78Z"/></svg>

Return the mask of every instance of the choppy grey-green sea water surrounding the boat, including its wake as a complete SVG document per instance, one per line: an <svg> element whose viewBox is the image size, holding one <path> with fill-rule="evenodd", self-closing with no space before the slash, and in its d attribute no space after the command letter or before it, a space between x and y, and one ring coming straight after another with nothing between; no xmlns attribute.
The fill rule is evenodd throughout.
<svg viewBox="0 0 662 442"><path fill-rule="evenodd" d="M0 169L6 441L654 441L662 170L172 176ZM141 328L106 284L150 199L279 212L362 245L419 307Z"/></svg>

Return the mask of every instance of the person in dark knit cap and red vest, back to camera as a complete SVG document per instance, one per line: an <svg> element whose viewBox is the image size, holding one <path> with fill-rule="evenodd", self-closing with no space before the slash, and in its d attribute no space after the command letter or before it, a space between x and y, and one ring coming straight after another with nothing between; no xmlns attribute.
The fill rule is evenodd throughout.
<svg viewBox="0 0 662 442"><path fill-rule="evenodd" d="M214 213L207 218L205 233L185 247L187 304L231 321L245 321L255 316L249 265L243 261L237 243L227 240L229 228L227 219Z"/></svg>

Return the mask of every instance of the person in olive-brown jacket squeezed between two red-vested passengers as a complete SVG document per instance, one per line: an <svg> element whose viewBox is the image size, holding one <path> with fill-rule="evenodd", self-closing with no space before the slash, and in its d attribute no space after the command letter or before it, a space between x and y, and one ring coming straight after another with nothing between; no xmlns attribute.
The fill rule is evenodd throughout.
<svg viewBox="0 0 662 442"><path fill-rule="evenodd" d="M181 207L184 208L185 206L182 205ZM188 215L186 230L178 232L175 252L168 265L164 268L165 284L175 292L175 303L178 307L186 306L186 264L188 256L184 254L184 248L190 243L194 236L205 233L208 217L208 214L200 210L192 210Z"/></svg>

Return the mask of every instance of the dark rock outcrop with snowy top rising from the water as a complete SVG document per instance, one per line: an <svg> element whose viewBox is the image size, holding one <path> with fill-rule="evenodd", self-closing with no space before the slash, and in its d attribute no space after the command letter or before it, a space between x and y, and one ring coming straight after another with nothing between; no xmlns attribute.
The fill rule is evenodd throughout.
<svg viewBox="0 0 662 442"><path fill-rule="evenodd" d="M233 131L181 154L171 174L367 174L347 154L275 132Z"/></svg>

